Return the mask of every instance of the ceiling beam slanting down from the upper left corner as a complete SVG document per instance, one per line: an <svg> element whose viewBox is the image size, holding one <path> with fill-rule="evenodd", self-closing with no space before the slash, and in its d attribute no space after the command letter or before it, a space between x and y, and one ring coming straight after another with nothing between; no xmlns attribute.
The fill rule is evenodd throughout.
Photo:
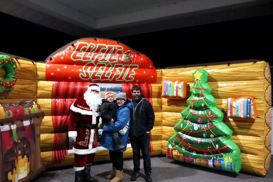
<svg viewBox="0 0 273 182"><path fill-rule="evenodd" d="M96 19L56 0L13 0L87 30L96 29ZM75 1L76 3L76 1Z"/></svg>

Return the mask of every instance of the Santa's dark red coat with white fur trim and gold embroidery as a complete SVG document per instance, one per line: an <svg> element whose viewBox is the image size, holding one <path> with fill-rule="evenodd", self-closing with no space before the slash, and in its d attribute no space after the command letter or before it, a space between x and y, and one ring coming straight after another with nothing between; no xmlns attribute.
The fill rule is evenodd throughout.
<svg viewBox="0 0 273 182"><path fill-rule="evenodd" d="M78 98L70 107L68 136L76 137L73 153L84 155L97 151L98 128L90 129L77 127L77 122L85 124L98 124L100 119L99 108L97 111L90 111L84 97Z"/></svg>

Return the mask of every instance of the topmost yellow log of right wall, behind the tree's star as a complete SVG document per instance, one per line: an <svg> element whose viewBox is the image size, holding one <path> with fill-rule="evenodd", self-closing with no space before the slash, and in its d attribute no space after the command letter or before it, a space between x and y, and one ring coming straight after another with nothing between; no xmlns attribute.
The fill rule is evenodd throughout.
<svg viewBox="0 0 273 182"><path fill-rule="evenodd" d="M229 82L245 80L263 80L265 61L191 68L163 69L162 80L171 78L185 82L193 82L193 72L204 69L208 72L208 82ZM211 85L210 85L211 86Z"/></svg>

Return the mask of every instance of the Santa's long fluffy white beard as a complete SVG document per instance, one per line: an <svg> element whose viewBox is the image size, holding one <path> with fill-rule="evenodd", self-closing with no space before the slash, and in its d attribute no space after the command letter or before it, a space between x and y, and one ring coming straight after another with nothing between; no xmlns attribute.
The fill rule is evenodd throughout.
<svg viewBox="0 0 273 182"><path fill-rule="evenodd" d="M102 104L102 97L99 94L95 94L93 92L86 91L84 93L84 100L86 101L86 104L89 106L90 111L96 111L98 107Z"/></svg>

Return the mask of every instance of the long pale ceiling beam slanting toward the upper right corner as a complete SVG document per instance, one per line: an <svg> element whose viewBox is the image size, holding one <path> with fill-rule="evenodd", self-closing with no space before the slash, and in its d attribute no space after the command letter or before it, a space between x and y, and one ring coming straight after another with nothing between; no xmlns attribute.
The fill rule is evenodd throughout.
<svg viewBox="0 0 273 182"><path fill-rule="evenodd" d="M181 3L174 3L160 7L144 9L121 15L99 18L96 20L96 29L110 30L113 28L123 28L143 23L156 22L173 17L189 16L211 13L215 11L234 9L238 7L263 4L269 0L191 0Z"/></svg>

